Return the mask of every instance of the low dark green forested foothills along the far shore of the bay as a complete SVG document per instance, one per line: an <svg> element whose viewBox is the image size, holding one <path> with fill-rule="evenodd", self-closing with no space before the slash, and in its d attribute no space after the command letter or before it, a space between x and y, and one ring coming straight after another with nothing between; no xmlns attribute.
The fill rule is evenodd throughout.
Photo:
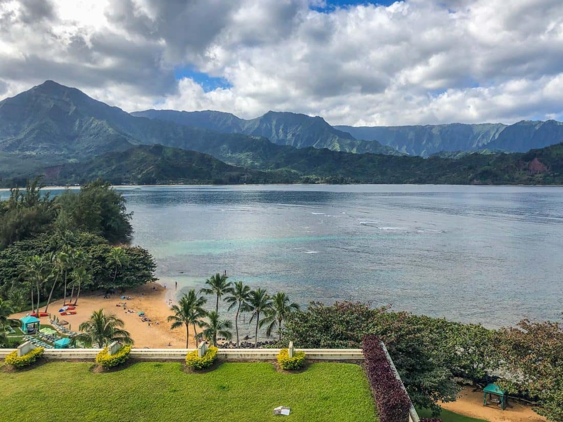
<svg viewBox="0 0 563 422"><path fill-rule="evenodd" d="M127 151L108 152L84 163L49 167L43 173L45 181L51 184L103 178L116 185L295 182L563 185L563 143L525 154L474 152L457 159L289 148L276 155L263 170L235 167L195 151L139 145ZM25 179L20 182L23 184Z"/></svg>

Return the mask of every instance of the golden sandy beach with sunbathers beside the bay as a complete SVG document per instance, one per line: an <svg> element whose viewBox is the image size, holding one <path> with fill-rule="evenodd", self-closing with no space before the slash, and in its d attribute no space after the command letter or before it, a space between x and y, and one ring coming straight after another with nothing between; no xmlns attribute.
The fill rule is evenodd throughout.
<svg viewBox="0 0 563 422"><path fill-rule="evenodd" d="M157 291L153 291L153 286ZM130 296L131 300L120 299L120 296ZM69 322L71 329L78 331L78 326L81 322L88 320L93 311L102 308L105 312L113 312L125 322L125 327L133 340L135 340L135 347L143 348L185 348L186 347L186 330L185 328L178 330L171 330L170 323L166 321L168 315L171 314L169 310L168 299L175 297L175 290L164 289L158 283L149 283L140 286L134 290L125 291L122 294L116 293L110 295L109 299L104 299L104 294L96 292L88 295L81 295L78 299L78 306L75 309L78 313L76 315L59 316L59 319L64 319ZM115 306L117 303L126 302L127 309L135 311L135 313L127 313L122 307ZM56 300L49 305L51 315L59 315L57 312L62 307L62 299ZM44 308L40 308L43 311ZM150 326L148 322L142 322L141 318L137 316L137 312L145 312L152 321ZM12 315L12 318L21 318L29 311L20 312ZM48 324L48 317L43 317L41 320L44 324ZM158 324L155 324L158 322ZM191 329L190 329L191 331ZM192 334L190 333L190 336ZM170 344L170 346L168 346ZM195 347L195 342L190 339L190 347Z"/></svg>

